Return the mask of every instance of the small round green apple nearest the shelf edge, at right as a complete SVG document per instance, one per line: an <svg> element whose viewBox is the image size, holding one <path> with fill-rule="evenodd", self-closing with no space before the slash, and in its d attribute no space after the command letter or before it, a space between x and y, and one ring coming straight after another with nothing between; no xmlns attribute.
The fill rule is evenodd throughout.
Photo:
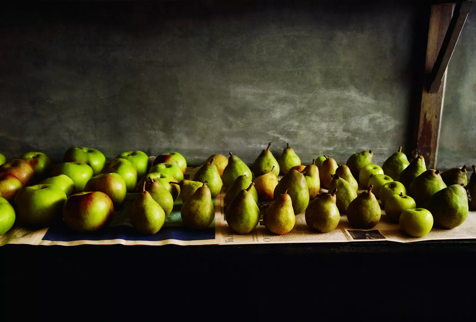
<svg viewBox="0 0 476 322"><path fill-rule="evenodd" d="M400 215L400 228L413 237L425 236L433 227L433 216L423 208L407 209Z"/></svg>

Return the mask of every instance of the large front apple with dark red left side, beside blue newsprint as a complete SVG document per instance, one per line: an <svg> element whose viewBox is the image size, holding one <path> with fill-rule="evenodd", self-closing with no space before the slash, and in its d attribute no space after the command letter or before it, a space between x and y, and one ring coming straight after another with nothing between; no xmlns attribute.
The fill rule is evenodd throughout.
<svg viewBox="0 0 476 322"><path fill-rule="evenodd" d="M63 206L64 221L75 231L97 231L108 223L113 213L111 199L101 191L73 194Z"/></svg>

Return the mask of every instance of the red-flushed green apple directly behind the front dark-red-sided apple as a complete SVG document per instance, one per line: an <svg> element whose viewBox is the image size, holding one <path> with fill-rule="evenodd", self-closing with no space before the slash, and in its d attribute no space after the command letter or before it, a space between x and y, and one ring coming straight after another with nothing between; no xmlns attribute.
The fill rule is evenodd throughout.
<svg viewBox="0 0 476 322"><path fill-rule="evenodd" d="M126 198L126 181L117 173L103 173L89 179L84 191L101 191L111 198L115 206Z"/></svg>

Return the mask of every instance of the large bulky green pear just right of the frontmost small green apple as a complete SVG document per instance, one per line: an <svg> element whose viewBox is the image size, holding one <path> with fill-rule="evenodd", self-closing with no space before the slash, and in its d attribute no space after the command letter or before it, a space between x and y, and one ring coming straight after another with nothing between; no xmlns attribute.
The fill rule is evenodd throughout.
<svg viewBox="0 0 476 322"><path fill-rule="evenodd" d="M431 197L429 211L436 226L453 229L466 220L468 198L464 187L464 184L452 184Z"/></svg>

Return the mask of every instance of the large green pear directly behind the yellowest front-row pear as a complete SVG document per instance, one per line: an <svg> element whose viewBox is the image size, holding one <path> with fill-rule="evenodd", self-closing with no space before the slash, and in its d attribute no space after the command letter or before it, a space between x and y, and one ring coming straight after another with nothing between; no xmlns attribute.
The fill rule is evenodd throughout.
<svg viewBox="0 0 476 322"><path fill-rule="evenodd" d="M294 213L299 214L305 211L309 204L309 188L307 188L304 175L296 170L286 173L274 189L274 198L284 194L286 190L293 201Z"/></svg>

